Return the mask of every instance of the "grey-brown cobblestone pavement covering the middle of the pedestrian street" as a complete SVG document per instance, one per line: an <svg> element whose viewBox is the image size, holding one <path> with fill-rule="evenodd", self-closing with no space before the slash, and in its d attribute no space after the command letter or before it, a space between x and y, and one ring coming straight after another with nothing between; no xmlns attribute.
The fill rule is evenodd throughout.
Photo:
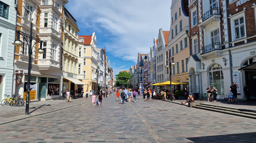
<svg viewBox="0 0 256 143"><path fill-rule="evenodd" d="M0 125L1 142L255 142L256 120L116 97Z"/></svg>

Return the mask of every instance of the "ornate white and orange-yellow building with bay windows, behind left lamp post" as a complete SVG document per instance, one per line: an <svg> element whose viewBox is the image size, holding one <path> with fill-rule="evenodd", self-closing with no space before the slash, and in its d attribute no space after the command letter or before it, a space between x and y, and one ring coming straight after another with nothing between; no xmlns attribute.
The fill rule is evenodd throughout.
<svg viewBox="0 0 256 143"><path fill-rule="evenodd" d="M29 35L30 22L33 23L32 36L43 41L44 54L38 54L39 44L32 41L32 67L30 78L30 99L46 100L61 94L61 55L64 23L64 5L67 0L58 1L18 1L17 30ZM28 37L21 37L23 46L15 47L14 85L15 94L26 96L28 68Z"/></svg>

